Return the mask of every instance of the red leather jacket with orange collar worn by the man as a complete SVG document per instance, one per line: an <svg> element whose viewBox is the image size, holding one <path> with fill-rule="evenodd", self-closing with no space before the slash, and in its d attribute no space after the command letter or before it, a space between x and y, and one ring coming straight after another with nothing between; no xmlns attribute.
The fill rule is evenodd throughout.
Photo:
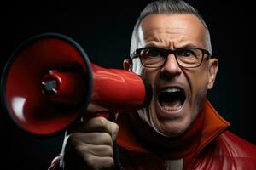
<svg viewBox="0 0 256 170"><path fill-rule="evenodd" d="M137 114L119 114L117 122L125 170L256 169L256 147L227 131L230 123L208 100L189 131L174 139L155 133ZM49 170L57 169L59 160Z"/></svg>

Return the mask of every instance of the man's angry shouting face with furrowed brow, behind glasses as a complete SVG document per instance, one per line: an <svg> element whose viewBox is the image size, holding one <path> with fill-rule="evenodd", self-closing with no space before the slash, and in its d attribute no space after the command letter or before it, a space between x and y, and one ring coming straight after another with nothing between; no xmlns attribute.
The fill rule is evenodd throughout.
<svg viewBox="0 0 256 170"><path fill-rule="evenodd" d="M151 14L138 28L138 48L144 47L206 49L206 31L193 14ZM138 65L141 66L139 59L133 59L133 69ZM137 73L148 79L154 90L148 112L143 111L143 116L166 136L183 133L201 110L217 70L218 60L207 59L206 55L196 68L180 67L173 54L160 68L142 66Z"/></svg>

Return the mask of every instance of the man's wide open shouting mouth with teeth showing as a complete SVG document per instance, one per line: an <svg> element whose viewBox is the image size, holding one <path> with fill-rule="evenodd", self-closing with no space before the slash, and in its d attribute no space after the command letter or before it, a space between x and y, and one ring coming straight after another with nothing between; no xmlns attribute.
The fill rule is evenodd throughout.
<svg viewBox="0 0 256 170"><path fill-rule="evenodd" d="M165 111L177 111L182 108L186 95L181 88L166 88L159 94L160 106Z"/></svg>

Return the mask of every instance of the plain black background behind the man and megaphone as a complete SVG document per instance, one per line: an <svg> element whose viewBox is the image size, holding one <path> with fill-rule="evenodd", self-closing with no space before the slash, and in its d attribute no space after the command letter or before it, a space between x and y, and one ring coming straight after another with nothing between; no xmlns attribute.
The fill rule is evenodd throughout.
<svg viewBox="0 0 256 170"><path fill-rule="evenodd" d="M96 65L121 69L123 59L129 56L133 25L147 2L10 1L1 4L0 72L21 42L44 32L72 37ZM187 2L194 4L205 18L212 35L213 56L219 59L218 79L208 97L231 122L232 132L256 144L253 5L231 0ZM49 139L27 136L14 126L2 108L0 134L0 165L7 166L6 169L47 169L60 152L63 139L63 134Z"/></svg>

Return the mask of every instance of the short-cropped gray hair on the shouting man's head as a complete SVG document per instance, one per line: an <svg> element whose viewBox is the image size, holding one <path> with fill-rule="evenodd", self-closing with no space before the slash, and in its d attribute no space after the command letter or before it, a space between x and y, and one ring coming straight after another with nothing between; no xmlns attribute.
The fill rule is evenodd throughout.
<svg viewBox="0 0 256 170"><path fill-rule="evenodd" d="M183 0L159 0L149 3L141 12L140 16L137 19L136 25L134 26L132 36L131 36L131 48L130 55L137 49L137 31L142 20L149 14L195 14L195 16L201 20L202 25L206 29L206 43L207 50L212 54L212 45L210 33L207 28L206 22L202 19L201 15L198 13L197 9L185 3Z"/></svg>

